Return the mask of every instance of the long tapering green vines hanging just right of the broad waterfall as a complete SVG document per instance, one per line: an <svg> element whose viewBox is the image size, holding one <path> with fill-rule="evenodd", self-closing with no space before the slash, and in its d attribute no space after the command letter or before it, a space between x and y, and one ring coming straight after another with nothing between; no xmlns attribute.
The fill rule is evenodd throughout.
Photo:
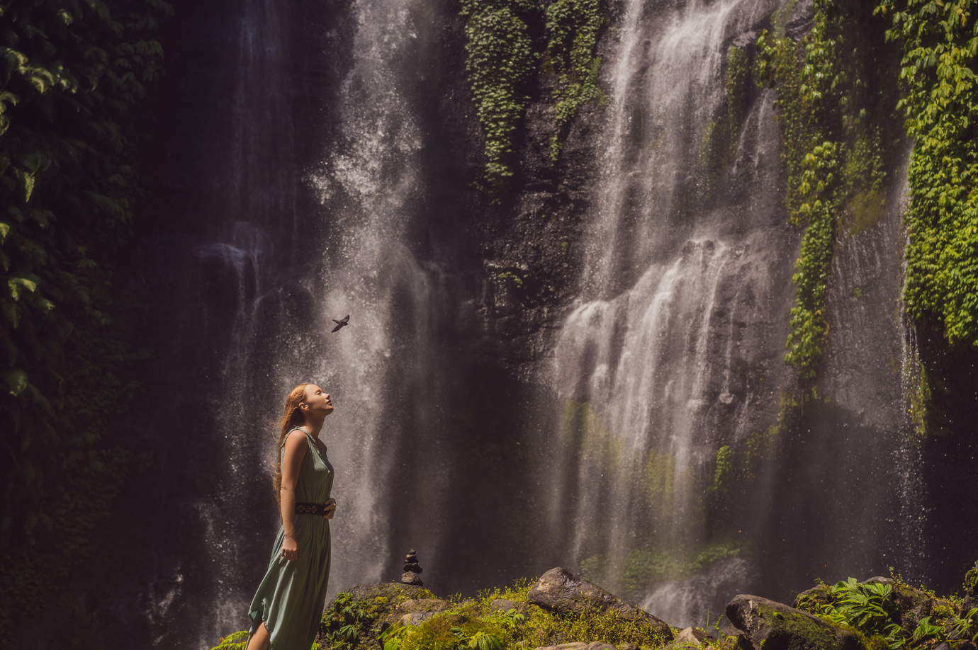
<svg viewBox="0 0 978 650"><path fill-rule="evenodd" d="M825 297L833 242L840 226L855 234L882 215L883 142L887 92L867 79L883 77L864 28L836 0L815 3L815 25L803 43L762 31L755 76L778 86L781 158L787 168L785 205L792 224L805 227L792 278L795 305L784 361L814 381L828 340ZM778 20L775 21L778 23ZM799 65L799 48L804 64ZM885 59L883 60L885 61Z"/></svg>

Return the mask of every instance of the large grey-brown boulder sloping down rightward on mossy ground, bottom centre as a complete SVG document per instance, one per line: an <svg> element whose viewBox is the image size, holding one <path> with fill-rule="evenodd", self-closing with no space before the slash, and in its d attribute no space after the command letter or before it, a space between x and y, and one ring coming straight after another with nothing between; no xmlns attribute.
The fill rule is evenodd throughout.
<svg viewBox="0 0 978 650"><path fill-rule="evenodd" d="M575 578L566 569L556 567L543 576L527 593L526 599L557 614L578 614L586 610L614 611L625 621L645 623L655 632L672 640L673 632L664 621L645 610L629 605L621 598L608 593L598 585Z"/></svg>

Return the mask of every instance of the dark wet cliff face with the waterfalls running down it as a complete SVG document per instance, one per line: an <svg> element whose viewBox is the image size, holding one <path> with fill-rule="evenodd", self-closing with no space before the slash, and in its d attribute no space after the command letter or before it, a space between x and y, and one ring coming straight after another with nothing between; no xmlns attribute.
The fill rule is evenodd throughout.
<svg viewBox="0 0 978 650"><path fill-rule="evenodd" d="M107 533L142 568L101 607L130 638L241 627L278 525L266 423L306 380L337 405L334 591L413 546L441 592L562 563L651 606L698 580L675 616L700 621L721 584L777 592L917 548L921 479L893 455L900 178L838 243L830 403L777 438L800 233L776 91L751 82L734 110L727 87L778 3L603 9L607 105L553 163L556 78L535 72L490 195L454 3L177 3L145 152L156 359L123 427L154 462ZM680 568L622 577L663 562Z"/></svg>

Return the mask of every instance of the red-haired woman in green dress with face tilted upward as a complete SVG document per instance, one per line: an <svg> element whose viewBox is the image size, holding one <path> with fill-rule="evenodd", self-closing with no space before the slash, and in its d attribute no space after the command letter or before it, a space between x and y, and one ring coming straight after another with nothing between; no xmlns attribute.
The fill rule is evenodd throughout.
<svg viewBox="0 0 978 650"><path fill-rule="evenodd" d="M330 580L329 520L336 511L333 465L319 432L332 412L330 395L315 384L299 384L286 400L275 464L282 528L248 611L247 650L309 650L316 639Z"/></svg>

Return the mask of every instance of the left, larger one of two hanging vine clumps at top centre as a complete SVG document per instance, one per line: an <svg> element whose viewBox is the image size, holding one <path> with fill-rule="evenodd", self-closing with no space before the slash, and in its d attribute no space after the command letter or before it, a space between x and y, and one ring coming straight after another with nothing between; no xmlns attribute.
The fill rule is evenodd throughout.
<svg viewBox="0 0 978 650"><path fill-rule="evenodd" d="M512 138L529 98L522 86L533 69L526 22L529 0L463 0L466 69L485 136L485 178L502 190L512 176Z"/></svg>

